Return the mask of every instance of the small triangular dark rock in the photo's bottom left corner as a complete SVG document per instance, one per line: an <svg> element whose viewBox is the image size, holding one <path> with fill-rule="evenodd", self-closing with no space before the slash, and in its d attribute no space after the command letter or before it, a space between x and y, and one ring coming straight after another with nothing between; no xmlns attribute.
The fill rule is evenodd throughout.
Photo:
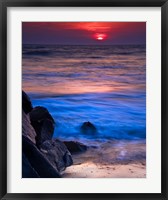
<svg viewBox="0 0 168 200"><path fill-rule="evenodd" d="M32 168L25 154L22 153L22 178L39 178L40 176Z"/></svg>

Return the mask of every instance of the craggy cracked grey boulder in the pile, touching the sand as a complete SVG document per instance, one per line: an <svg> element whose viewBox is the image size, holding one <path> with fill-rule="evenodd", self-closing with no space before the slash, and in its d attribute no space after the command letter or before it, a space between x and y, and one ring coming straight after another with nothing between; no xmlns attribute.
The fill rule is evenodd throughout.
<svg viewBox="0 0 168 200"><path fill-rule="evenodd" d="M50 163L57 167L59 172L73 164L71 154L67 147L57 139L46 140L41 145L40 150Z"/></svg>

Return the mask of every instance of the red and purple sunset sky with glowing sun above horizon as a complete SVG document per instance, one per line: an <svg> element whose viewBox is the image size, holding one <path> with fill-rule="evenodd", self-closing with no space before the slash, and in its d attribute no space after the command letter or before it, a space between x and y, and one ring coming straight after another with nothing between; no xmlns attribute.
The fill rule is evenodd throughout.
<svg viewBox="0 0 168 200"><path fill-rule="evenodd" d="M145 22L23 22L23 44L145 44Z"/></svg>

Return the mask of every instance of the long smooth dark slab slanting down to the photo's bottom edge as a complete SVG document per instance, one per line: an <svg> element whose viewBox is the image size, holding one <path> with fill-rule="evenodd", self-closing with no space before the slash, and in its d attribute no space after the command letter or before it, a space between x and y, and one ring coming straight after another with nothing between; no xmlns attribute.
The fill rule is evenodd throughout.
<svg viewBox="0 0 168 200"><path fill-rule="evenodd" d="M22 152L40 178L60 178L57 168L53 167L33 142L25 136L22 136Z"/></svg>

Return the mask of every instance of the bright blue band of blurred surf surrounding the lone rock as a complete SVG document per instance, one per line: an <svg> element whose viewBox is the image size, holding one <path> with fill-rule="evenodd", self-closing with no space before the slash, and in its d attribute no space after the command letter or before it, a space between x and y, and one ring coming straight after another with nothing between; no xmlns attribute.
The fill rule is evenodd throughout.
<svg viewBox="0 0 168 200"><path fill-rule="evenodd" d="M146 108L143 94L78 94L33 96L34 106L46 107L56 121L55 136L94 139L145 139ZM129 102L129 99L130 102ZM91 121L95 135L83 135L80 127Z"/></svg>

